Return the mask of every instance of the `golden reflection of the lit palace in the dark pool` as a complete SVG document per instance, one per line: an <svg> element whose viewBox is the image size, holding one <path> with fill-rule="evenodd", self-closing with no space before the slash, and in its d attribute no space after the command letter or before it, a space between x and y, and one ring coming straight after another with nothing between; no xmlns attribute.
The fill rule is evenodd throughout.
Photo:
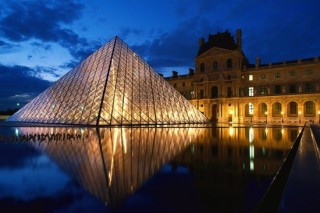
<svg viewBox="0 0 320 213"><path fill-rule="evenodd" d="M298 136L293 128L206 129L172 161L186 165L208 212L254 212Z"/></svg>

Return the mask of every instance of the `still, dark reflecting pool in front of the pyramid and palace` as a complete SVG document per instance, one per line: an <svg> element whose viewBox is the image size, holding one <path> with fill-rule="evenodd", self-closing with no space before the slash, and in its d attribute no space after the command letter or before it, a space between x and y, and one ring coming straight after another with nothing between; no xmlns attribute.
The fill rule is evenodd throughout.
<svg viewBox="0 0 320 213"><path fill-rule="evenodd" d="M0 212L252 212L300 129L0 128Z"/></svg>

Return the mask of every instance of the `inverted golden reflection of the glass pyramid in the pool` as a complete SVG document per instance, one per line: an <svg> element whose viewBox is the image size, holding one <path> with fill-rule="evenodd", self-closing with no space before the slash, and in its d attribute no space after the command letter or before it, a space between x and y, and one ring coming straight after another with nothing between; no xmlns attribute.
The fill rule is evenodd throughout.
<svg viewBox="0 0 320 213"><path fill-rule="evenodd" d="M21 127L19 135L95 197L116 206L196 140L200 131L183 127Z"/></svg>

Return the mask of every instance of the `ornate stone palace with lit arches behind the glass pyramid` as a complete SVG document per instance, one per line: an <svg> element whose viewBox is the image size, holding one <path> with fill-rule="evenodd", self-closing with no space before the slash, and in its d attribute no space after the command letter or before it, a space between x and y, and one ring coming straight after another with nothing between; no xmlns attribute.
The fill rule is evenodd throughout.
<svg viewBox="0 0 320 213"><path fill-rule="evenodd" d="M199 40L195 71L166 80L210 120L232 123L304 124L320 121L318 57L250 64L241 30Z"/></svg>

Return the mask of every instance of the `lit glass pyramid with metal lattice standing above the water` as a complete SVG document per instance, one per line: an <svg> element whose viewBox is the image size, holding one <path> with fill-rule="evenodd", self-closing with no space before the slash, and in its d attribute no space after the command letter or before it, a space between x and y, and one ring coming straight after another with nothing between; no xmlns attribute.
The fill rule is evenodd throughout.
<svg viewBox="0 0 320 213"><path fill-rule="evenodd" d="M8 121L111 126L204 123L207 118L114 37Z"/></svg>

